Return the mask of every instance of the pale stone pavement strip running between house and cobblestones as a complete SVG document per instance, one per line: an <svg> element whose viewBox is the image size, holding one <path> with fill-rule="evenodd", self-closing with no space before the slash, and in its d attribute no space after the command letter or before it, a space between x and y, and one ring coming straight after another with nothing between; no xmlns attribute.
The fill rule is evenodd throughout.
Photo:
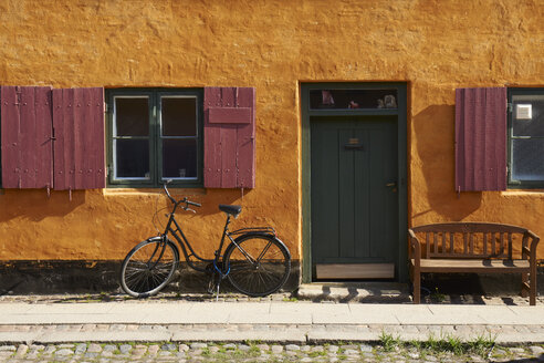
<svg viewBox="0 0 544 363"><path fill-rule="evenodd" d="M1 303L2 342L426 341L454 335L544 342L544 307L312 302Z"/></svg>

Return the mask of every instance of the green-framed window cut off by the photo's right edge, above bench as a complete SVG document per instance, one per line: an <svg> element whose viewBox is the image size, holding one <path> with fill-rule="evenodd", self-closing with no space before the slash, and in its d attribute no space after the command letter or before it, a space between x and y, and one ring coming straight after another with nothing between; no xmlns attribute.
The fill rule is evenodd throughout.
<svg viewBox="0 0 544 363"><path fill-rule="evenodd" d="M544 188L544 89L509 89L508 184Z"/></svg>

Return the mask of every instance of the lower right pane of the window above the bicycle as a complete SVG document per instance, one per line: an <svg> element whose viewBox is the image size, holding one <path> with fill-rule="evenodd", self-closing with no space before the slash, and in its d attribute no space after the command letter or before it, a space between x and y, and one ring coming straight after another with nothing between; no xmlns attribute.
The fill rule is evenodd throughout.
<svg viewBox="0 0 544 363"><path fill-rule="evenodd" d="M163 139L163 177L197 177L196 139Z"/></svg>

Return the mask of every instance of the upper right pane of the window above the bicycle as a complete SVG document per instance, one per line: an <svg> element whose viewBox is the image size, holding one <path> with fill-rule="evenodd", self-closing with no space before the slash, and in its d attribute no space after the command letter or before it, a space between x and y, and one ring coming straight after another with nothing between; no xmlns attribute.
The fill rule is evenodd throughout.
<svg viewBox="0 0 544 363"><path fill-rule="evenodd" d="M197 98L161 97L164 136L197 135Z"/></svg>

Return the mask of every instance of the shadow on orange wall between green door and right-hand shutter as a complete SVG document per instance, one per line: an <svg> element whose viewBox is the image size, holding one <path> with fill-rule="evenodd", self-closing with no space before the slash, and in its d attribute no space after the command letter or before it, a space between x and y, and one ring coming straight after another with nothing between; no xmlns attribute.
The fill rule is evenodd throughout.
<svg viewBox="0 0 544 363"><path fill-rule="evenodd" d="M447 221L462 220L480 208L482 194L456 191L456 107L454 105L432 105L412 117L411 141L416 144L421 160L421 174L412 163L411 194L414 208L422 196L418 190L427 190L429 210L414 210L414 218L430 212L439 214ZM421 188L420 184L426 187ZM429 221L430 222L430 221Z"/></svg>

